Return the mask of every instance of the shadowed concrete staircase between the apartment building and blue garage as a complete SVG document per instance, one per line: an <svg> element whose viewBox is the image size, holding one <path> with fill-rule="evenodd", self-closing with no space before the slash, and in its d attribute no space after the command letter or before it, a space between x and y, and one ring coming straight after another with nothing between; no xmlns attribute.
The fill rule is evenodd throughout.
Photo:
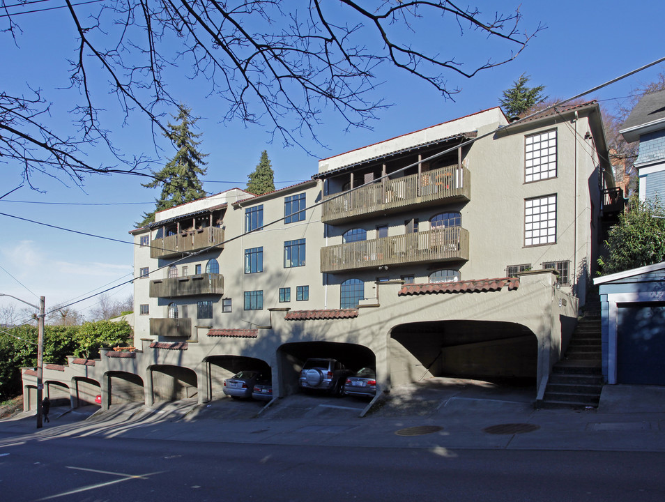
<svg viewBox="0 0 665 502"><path fill-rule="evenodd" d="M574 330L562 360L547 381L541 408L598 406L603 388L600 312L588 308Z"/></svg>

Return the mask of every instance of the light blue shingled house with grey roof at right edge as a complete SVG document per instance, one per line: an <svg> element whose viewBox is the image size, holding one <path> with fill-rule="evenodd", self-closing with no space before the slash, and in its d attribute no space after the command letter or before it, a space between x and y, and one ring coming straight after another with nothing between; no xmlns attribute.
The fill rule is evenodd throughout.
<svg viewBox="0 0 665 502"><path fill-rule="evenodd" d="M639 141L635 168L640 200L665 199L665 91L642 96L619 131L629 143Z"/></svg>

